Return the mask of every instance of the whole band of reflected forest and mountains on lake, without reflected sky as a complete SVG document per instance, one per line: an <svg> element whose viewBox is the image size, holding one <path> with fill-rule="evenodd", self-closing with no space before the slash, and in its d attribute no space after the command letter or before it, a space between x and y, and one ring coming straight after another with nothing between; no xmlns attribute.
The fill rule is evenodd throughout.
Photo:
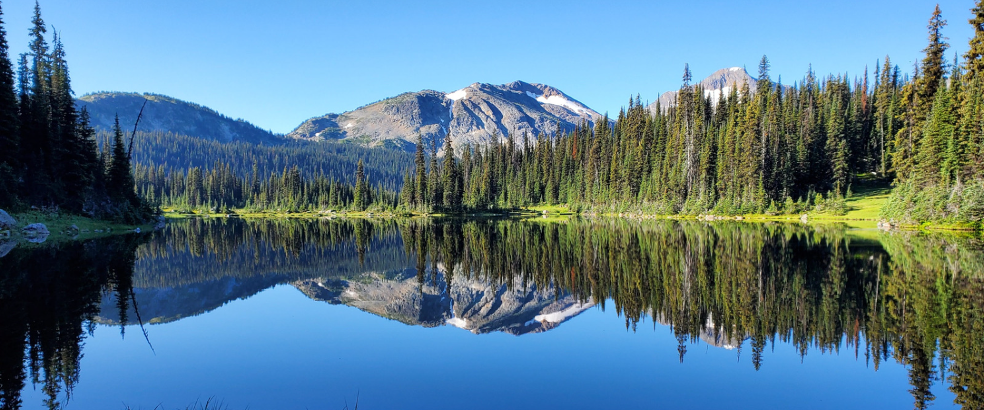
<svg viewBox="0 0 984 410"><path fill-rule="evenodd" d="M374 280L416 290L373 293L388 303L385 312L346 296L372 291ZM536 312L571 316L595 305L632 330L644 321L670 325L681 362L703 339L734 347L760 369L769 345L784 343L801 356L851 354L876 371L901 363L914 408L935 400L936 383L963 408L984 408L984 252L976 238L724 221L232 218L169 224L144 241L0 258L0 325L9 329L0 407L19 407L29 377L57 407L59 391L79 381L80 346L96 323L122 331L141 322L138 313L176 321L281 283L420 325L463 322L473 306L456 289L481 284L538 299L474 332L545 331L556 324L531 321ZM413 299L402 304L413 305L412 315L393 310L400 298Z"/></svg>

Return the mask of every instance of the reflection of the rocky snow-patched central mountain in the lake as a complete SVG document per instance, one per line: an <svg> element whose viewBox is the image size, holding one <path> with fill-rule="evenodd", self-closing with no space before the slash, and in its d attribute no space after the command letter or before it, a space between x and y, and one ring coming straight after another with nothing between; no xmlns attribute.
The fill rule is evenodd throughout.
<svg viewBox="0 0 984 410"><path fill-rule="evenodd" d="M343 304L407 324L453 325L472 333L525 334L549 330L591 306L552 290L509 289L455 276L450 287L417 281L415 271L395 277L368 274L359 281L299 280L293 285L312 299Z"/></svg>

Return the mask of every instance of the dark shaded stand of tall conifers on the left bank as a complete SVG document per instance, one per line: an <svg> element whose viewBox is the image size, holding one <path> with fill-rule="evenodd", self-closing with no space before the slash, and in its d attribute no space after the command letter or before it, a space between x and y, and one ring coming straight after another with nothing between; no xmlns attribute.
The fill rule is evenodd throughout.
<svg viewBox="0 0 984 410"><path fill-rule="evenodd" d="M57 32L48 45L36 3L31 23L30 51L20 55L15 82L0 22L0 206L149 220L154 209L133 190L119 124L111 147L100 154L89 114L75 107L65 48Z"/></svg>

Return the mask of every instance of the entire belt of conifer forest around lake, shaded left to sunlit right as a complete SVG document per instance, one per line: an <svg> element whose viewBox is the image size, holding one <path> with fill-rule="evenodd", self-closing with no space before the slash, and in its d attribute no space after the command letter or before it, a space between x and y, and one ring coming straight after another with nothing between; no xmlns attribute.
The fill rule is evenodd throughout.
<svg viewBox="0 0 984 410"><path fill-rule="evenodd" d="M980 2L971 10L974 36L962 56L948 55L948 23L937 7L925 55L911 69L886 56L870 74L807 70L787 85L773 79L763 56L755 91L744 84L715 95L692 84L685 66L668 106L647 107L637 95L615 118L584 121L571 132L509 133L478 146L454 146L449 133L441 144L418 139L412 157L386 148L325 154L318 147L325 145L314 143L226 146L179 135L128 136L126 124L96 133L73 102L58 33L45 36L39 8L32 24L30 52L16 58L0 35L0 205L9 207L57 205L126 220L145 218L154 204L775 214L836 212L864 179L891 182L884 219L984 216ZM140 160L131 170L135 147ZM339 154L368 161L363 194L353 194L360 183L354 159L320 159Z"/></svg>

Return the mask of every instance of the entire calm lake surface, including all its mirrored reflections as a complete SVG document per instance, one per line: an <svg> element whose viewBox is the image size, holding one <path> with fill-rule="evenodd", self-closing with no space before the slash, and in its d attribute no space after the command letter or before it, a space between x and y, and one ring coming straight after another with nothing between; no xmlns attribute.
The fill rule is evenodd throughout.
<svg viewBox="0 0 984 410"><path fill-rule="evenodd" d="M188 220L0 244L0 408L984 407L979 240Z"/></svg>

